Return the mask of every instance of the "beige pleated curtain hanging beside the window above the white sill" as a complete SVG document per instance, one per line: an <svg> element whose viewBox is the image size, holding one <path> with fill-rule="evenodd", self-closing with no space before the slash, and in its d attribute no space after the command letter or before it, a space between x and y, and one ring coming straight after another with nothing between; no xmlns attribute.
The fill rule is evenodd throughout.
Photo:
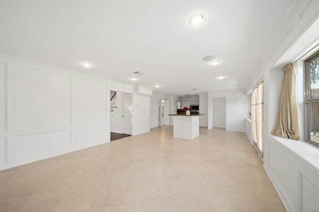
<svg viewBox="0 0 319 212"><path fill-rule="evenodd" d="M299 140L301 132L296 71L296 63L284 68L285 76L280 100L279 122L275 135Z"/></svg>

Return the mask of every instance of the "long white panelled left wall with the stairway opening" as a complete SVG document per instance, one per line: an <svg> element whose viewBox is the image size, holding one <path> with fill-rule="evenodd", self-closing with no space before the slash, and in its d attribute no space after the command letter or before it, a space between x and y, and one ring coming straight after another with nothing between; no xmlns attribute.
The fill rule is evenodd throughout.
<svg viewBox="0 0 319 212"><path fill-rule="evenodd" d="M110 90L134 86L0 56L1 170L110 141ZM135 134L150 130L150 98L139 95Z"/></svg>

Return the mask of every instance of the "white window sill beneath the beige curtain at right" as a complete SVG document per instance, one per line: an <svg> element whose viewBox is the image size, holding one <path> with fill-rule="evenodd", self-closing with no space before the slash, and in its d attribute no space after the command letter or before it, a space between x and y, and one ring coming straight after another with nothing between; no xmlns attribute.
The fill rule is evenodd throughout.
<svg viewBox="0 0 319 212"><path fill-rule="evenodd" d="M309 144L303 140L292 140L289 138L282 138L276 135L270 135L272 138L283 144L285 147L299 155L301 158L319 169L319 148Z"/></svg>

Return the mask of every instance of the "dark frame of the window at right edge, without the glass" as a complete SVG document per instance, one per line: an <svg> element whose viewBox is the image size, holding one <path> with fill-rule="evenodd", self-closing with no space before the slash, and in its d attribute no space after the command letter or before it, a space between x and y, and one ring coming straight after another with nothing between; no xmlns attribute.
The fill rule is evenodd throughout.
<svg viewBox="0 0 319 212"><path fill-rule="evenodd" d="M310 57L304 60L304 129L305 129L305 141L315 145L319 146L319 142L315 142L310 140L311 139L311 115L310 115L310 105L312 103L319 103L319 99L311 98L311 83L310 83L310 69L309 64L311 61L319 57L319 51L312 54ZM309 117L309 118L308 118Z"/></svg>

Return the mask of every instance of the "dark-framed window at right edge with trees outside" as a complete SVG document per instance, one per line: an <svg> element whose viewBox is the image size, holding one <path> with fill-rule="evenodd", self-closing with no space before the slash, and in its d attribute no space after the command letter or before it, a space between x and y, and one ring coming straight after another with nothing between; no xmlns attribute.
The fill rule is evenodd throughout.
<svg viewBox="0 0 319 212"><path fill-rule="evenodd" d="M305 60L306 140L319 145L319 52Z"/></svg>

